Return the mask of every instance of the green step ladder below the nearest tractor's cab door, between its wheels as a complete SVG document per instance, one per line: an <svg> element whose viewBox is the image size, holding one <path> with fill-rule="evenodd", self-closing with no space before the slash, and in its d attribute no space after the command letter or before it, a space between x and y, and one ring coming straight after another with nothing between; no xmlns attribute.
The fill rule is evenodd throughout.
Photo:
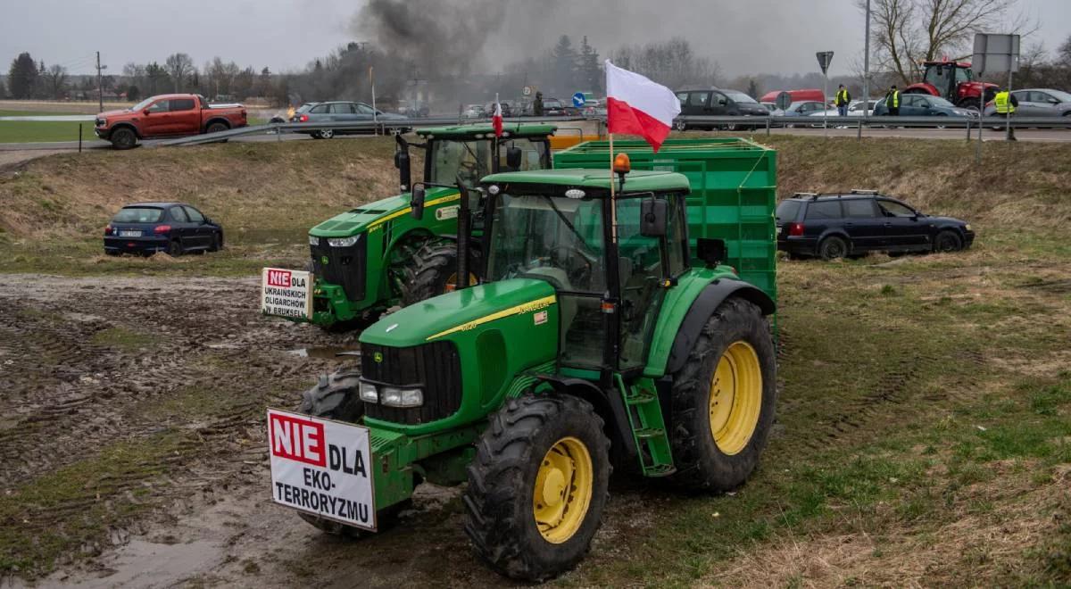
<svg viewBox="0 0 1071 589"><path fill-rule="evenodd" d="M621 394L624 396L629 424L632 426L632 437L636 442L644 475L673 474L677 468L673 465L669 436L666 435L665 421L662 419L659 395L654 392L654 381L642 378L633 386L627 387L621 375L615 377L618 390L622 391Z"/></svg>

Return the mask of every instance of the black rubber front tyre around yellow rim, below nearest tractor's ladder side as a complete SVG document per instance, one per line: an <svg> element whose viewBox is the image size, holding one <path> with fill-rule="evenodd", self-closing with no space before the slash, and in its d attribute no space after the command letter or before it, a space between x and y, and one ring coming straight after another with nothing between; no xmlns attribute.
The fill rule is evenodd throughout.
<svg viewBox="0 0 1071 589"><path fill-rule="evenodd" d="M562 487L562 493L572 489L570 501L583 501L586 496L588 504L578 516L582 519L573 523L571 534L552 542L536 523L536 485L541 469L550 464L540 457L549 456L552 448L567 440L587 451L591 484L586 495L576 485ZM602 524L612 470L608 454L603 421L588 402L569 395L526 395L507 402L491 417L468 467L465 532L476 552L499 573L527 582L546 580L575 567ZM572 453L557 455L573 465L585 464ZM545 485L547 479L543 480Z"/></svg>

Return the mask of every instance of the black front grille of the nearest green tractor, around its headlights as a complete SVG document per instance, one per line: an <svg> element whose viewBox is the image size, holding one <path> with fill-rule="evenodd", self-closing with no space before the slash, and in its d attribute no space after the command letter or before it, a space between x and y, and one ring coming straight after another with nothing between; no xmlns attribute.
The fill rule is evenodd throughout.
<svg viewBox="0 0 1071 589"><path fill-rule="evenodd" d="M384 407L365 403L364 413L369 418L416 425L449 418L461 409L462 361L452 342L434 342L411 348L361 344L361 374L376 382L420 387L424 391L424 405L421 407Z"/></svg>

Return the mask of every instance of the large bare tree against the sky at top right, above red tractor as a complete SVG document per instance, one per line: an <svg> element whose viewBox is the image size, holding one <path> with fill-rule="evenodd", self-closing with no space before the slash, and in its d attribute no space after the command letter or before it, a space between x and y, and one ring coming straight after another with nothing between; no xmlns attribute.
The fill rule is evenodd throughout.
<svg viewBox="0 0 1071 589"><path fill-rule="evenodd" d="M866 0L856 5L865 11ZM906 85L918 76L920 62L965 55L976 32L1034 32L1036 26L1013 14L1015 5L1016 0L872 0L875 64Z"/></svg>

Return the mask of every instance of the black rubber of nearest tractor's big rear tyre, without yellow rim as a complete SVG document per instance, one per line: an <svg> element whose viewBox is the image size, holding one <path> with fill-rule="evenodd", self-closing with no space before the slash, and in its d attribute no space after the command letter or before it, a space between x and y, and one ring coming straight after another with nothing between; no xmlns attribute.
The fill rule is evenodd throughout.
<svg viewBox="0 0 1071 589"><path fill-rule="evenodd" d="M761 399L750 437L729 454L714 438L711 402L716 401L712 395L721 394L715 390L715 371L729 347L740 343L754 350L761 375ZM738 374L735 365L733 374L734 378ZM669 441L677 471L669 480L691 492L724 493L743 484L766 447L776 394L776 353L770 324L754 303L731 297L707 320L684 366L674 375Z"/></svg>

